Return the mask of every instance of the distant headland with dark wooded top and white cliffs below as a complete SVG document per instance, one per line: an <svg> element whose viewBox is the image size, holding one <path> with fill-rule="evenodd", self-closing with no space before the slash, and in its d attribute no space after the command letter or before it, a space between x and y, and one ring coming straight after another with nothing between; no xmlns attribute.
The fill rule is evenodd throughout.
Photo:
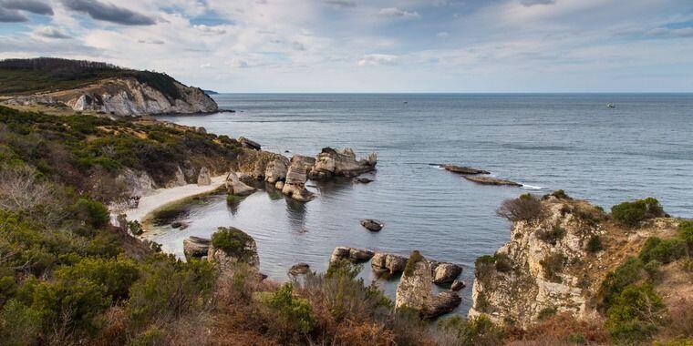
<svg viewBox="0 0 693 346"><path fill-rule="evenodd" d="M0 61L0 96L12 107L69 107L116 116L218 109L202 89L166 74L58 58Z"/></svg>

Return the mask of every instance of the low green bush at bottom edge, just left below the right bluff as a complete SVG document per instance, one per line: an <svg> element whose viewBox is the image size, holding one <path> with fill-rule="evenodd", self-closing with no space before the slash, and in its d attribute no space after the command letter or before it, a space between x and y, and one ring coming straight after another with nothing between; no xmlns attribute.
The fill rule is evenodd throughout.
<svg viewBox="0 0 693 346"><path fill-rule="evenodd" d="M493 324L484 315L469 320L456 315L439 321L438 325L443 330L455 332L458 338L456 344L459 345L501 345L504 343L502 328Z"/></svg>

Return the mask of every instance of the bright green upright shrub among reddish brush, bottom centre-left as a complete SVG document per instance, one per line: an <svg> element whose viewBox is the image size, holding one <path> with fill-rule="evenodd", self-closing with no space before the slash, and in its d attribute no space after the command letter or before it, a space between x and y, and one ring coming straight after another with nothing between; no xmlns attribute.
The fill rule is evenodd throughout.
<svg viewBox="0 0 693 346"><path fill-rule="evenodd" d="M292 326L295 331L309 333L315 329L315 315L307 300L294 297L294 287L286 283L274 293L269 305L279 312L284 324Z"/></svg>

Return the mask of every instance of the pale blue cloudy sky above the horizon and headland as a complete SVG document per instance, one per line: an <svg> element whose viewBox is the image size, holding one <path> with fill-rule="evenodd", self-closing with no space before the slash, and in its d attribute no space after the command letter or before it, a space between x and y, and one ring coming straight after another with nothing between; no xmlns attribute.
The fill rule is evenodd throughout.
<svg viewBox="0 0 693 346"><path fill-rule="evenodd" d="M220 92L693 92L693 0L0 0L0 58Z"/></svg>

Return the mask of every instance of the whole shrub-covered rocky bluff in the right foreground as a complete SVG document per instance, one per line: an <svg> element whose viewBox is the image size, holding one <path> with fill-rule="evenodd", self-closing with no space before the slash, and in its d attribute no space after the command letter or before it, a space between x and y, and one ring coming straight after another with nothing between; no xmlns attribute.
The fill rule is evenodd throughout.
<svg viewBox="0 0 693 346"><path fill-rule="evenodd" d="M616 344L693 337L693 224L669 218L657 199L607 214L558 191L507 200L499 214L512 221L511 240L476 261L471 317L530 331L521 341L541 332ZM556 319L574 327L542 331Z"/></svg>

